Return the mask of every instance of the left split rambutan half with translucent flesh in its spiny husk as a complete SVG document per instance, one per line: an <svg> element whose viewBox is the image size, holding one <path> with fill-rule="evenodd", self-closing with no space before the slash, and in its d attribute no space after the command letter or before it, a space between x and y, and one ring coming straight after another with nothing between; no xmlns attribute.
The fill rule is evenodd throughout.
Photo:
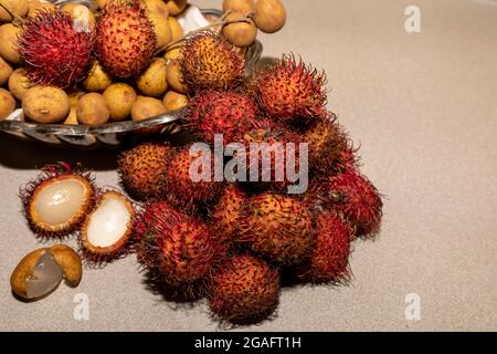
<svg viewBox="0 0 497 354"><path fill-rule="evenodd" d="M82 200L77 204L77 209L71 216L67 216L65 221L51 223L47 219L56 218L57 216L49 216L50 211L45 210L45 216L40 215L40 209L36 207L36 199L49 198L50 196L43 195L47 188L61 183L76 183L82 187ZM54 188L54 187L52 187ZM67 188L67 186L66 186ZM57 190L55 190L57 191ZM55 192L54 191L54 192ZM74 191L74 190L73 190ZM66 198L70 191L59 191L61 198ZM38 177L27 185L20 188L19 192L22 204L24 206L24 214L28 218L29 225L33 232L40 239L63 238L80 228L85 219L86 214L92 210L95 204L95 185L94 176L92 173L83 169L72 169L70 165L65 163L59 163L57 165L49 165L42 168ZM77 196L76 196L77 197ZM74 198L76 198L74 197ZM46 200L49 204L50 200ZM67 201L67 200L66 200ZM61 200L52 206L60 205ZM61 211L61 210L60 210ZM52 211L59 212L59 211ZM43 214L43 212L42 212ZM60 217L60 215L59 215Z"/></svg>

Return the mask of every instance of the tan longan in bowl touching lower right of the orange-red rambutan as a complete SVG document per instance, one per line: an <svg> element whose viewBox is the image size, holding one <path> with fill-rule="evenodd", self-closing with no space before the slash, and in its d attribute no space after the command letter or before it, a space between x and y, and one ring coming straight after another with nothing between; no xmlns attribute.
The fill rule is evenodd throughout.
<svg viewBox="0 0 497 354"><path fill-rule="evenodd" d="M162 58L154 60L150 66L137 79L136 86L146 96L162 96L168 91L166 80L167 62Z"/></svg>

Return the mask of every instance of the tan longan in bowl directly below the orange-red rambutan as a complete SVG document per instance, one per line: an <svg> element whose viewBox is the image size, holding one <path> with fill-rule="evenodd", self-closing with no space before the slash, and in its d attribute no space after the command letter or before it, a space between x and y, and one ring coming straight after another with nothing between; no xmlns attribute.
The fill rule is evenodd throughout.
<svg viewBox="0 0 497 354"><path fill-rule="evenodd" d="M131 114L137 94L128 84L112 84L104 92L105 103L110 113L110 121L124 121Z"/></svg>

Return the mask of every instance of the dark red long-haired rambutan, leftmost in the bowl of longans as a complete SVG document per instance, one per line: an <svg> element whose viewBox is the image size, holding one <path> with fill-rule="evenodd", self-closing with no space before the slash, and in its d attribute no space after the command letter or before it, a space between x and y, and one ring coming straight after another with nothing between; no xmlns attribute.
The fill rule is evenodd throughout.
<svg viewBox="0 0 497 354"><path fill-rule="evenodd" d="M62 10L39 10L22 23L19 53L30 82L61 88L75 86L93 59L94 29L78 30Z"/></svg>

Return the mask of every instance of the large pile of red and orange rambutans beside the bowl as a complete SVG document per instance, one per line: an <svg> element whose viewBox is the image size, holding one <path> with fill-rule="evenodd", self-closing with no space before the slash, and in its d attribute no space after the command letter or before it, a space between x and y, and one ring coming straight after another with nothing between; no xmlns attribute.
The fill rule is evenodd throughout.
<svg viewBox="0 0 497 354"><path fill-rule="evenodd" d="M200 85L184 116L188 144L121 154L123 184L142 201L135 249L155 289L205 296L215 319L236 324L274 315L288 274L298 283L350 282L352 242L378 233L382 198L327 111L325 85L324 73L284 55L242 82ZM269 150L264 166L254 144L281 144L284 154ZM220 148L232 156L218 156ZM236 175L242 169L246 178ZM292 170L307 188L289 192Z"/></svg>

